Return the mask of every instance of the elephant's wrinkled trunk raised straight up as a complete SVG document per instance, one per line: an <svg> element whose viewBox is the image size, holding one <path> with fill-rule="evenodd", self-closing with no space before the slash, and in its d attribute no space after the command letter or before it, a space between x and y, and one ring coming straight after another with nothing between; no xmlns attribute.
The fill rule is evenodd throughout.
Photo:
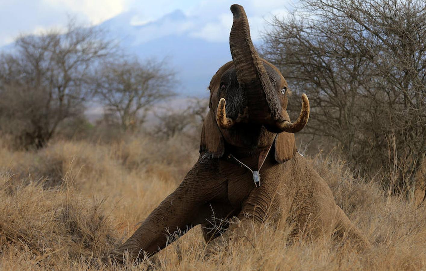
<svg viewBox="0 0 426 271"><path fill-rule="evenodd" d="M229 36L231 55L239 87L245 92L251 121L282 121L282 107L250 38L242 6L232 5L233 24Z"/></svg>

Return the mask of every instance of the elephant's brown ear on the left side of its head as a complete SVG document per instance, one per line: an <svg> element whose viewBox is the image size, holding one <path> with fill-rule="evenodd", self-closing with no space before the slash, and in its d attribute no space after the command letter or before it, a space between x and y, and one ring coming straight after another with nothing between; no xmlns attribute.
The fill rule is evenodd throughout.
<svg viewBox="0 0 426 271"><path fill-rule="evenodd" d="M222 133L210 110L204 119L203 129L201 130L200 153L203 152L210 153L213 158L222 157L225 152Z"/></svg>

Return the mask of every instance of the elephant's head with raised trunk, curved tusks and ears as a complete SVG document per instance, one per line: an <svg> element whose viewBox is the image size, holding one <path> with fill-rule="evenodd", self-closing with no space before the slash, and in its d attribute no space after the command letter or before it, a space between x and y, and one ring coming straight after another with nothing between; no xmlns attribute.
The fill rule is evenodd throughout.
<svg viewBox="0 0 426 271"><path fill-rule="evenodd" d="M200 151L221 157L227 146L269 148L276 138L275 158L285 161L296 152L293 133L308 121L308 98L302 95L302 110L292 123L286 111L287 81L256 52L243 7L232 5L231 11L233 61L223 65L210 81L210 112L204 122Z"/></svg>

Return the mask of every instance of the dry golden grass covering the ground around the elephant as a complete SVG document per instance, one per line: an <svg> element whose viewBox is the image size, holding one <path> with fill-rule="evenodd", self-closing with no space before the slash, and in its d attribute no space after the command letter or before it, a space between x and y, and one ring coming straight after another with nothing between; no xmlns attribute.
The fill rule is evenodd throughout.
<svg viewBox="0 0 426 271"><path fill-rule="evenodd" d="M0 142L0 153L1 269L426 269L426 208L353 179L339 159L308 158L374 244L371 251L360 254L327 239L288 246L288 231L265 224L250 241L206 256L196 227L139 265L117 267L99 259L174 190L198 157L197 142L57 141L38 152L14 152Z"/></svg>

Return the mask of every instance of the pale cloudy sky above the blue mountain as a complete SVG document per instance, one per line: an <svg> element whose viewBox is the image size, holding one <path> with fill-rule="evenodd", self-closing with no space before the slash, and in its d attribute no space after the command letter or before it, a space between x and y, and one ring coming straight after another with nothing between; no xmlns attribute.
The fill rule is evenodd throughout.
<svg viewBox="0 0 426 271"><path fill-rule="evenodd" d="M11 43L17 35L63 29L69 17L79 22L99 24L118 14L130 12L133 25L144 25L164 14L181 10L186 16L203 17L193 36L209 41L223 41L232 25L229 7L245 7L253 39L265 27L265 19L284 16L296 0L0 0L0 46ZM213 20L214 18L214 20ZM189 27L189 26L188 26Z"/></svg>

